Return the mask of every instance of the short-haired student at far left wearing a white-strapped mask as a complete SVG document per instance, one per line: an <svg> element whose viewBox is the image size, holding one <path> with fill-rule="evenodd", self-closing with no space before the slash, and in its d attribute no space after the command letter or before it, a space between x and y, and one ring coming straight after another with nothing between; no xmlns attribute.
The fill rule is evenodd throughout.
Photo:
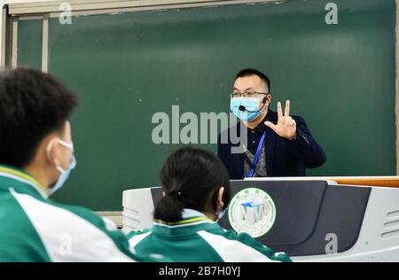
<svg viewBox="0 0 399 280"><path fill-rule="evenodd" d="M77 97L48 74L0 73L0 261L153 261L113 222L48 197L74 169ZM100 152L100 151L99 151Z"/></svg>

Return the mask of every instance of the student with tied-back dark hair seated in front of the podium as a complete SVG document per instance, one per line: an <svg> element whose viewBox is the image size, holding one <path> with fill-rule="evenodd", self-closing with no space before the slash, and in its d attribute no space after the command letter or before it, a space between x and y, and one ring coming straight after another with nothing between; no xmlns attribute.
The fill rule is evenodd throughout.
<svg viewBox="0 0 399 280"><path fill-rule="evenodd" d="M185 147L160 172L165 196L155 206L153 228L129 233L137 253L161 253L173 261L290 261L247 234L217 221L230 202L229 175L211 152Z"/></svg>

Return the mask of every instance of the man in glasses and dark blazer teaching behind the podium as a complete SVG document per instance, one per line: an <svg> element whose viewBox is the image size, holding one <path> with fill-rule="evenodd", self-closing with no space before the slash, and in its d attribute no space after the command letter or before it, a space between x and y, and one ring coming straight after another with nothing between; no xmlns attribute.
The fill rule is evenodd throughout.
<svg viewBox="0 0 399 280"><path fill-rule="evenodd" d="M270 79L255 69L237 74L231 93L231 112L239 123L224 130L218 138L218 155L230 177L304 176L306 168L322 166L326 161L323 148L310 134L305 120L290 115L290 101L285 110L278 102L278 112L269 109ZM231 129L246 129L243 152L232 152L238 145L231 141ZM242 134L243 136L245 134ZM242 138L242 137L241 137Z"/></svg>

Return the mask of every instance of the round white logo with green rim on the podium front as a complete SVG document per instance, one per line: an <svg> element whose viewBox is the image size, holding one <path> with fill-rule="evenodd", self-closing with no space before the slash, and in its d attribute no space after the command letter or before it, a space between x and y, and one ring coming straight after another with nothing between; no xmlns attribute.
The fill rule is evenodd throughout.
<svg viewBox="0 0 399 280"><path fill-rule="evenodd" d="M266 191L248 188L239 191L231 199L229 221L238 233L246 232L254 238L262 237L276 221L276 206Z"/></svg>

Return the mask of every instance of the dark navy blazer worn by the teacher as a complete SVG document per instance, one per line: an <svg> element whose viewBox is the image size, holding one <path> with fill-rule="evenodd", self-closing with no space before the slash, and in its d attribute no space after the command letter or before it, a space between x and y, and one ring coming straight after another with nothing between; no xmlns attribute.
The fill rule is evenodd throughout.
<svg viewBox="0 0 399 280"><path fill-rule="evenodd" d="M270 177L304 176L307 167L320 167L326 161L323 148L311 136L305 121L299 116L292 116L292 118L296 121L297 136L291 141L278 136L264 124L264 121L277 124L278 114L276 112L269 110L265 119L259 124L266 127L266 169ZM240 136L240 127L239 123L233 127L237 129L233 130L233 135ZM244 178L244 159L242 153L231 153L231 147L239 146L239 144L231 144L230 133L231 128L228 128L219 135L217 153L227 167L231 180L239 180ZM221 143L221 139L228 139L228 143Z"/></svg>

